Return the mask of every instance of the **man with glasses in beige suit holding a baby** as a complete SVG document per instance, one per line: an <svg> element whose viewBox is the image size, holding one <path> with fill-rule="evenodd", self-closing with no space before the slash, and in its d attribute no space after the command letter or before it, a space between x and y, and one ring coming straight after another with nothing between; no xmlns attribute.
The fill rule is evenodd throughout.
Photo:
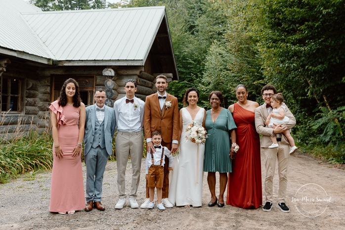
<svg viewBox="0 0 345 230"><path fill-rule="evenodd" d="M273 129L265 127L266 118L272 111L270 99L275 93L276 89L274 88L274 86L264 86L261 89L261 95L265 103L255 109L255 127L257 129L257 132L262 135L260 147L263 149L266 168L266 203L263 206L262 210L265 212L271 211L273 201L273 177L276 159L278 159L279 190L277 207L282 212L290 212L290 209L285 204L286 188L288 184L287 174L289 166L290 144L287 138L285 138L285 136L281 133L287 129L293 128L296 125L296 119L290 112L289 108L286 107L285 116L290 118L290 121L286 125L275 125L272 127ZM277 136L277 142L279 144L278 148L268 148L268 146L272 143L269 136L273 135Z"/></svg>

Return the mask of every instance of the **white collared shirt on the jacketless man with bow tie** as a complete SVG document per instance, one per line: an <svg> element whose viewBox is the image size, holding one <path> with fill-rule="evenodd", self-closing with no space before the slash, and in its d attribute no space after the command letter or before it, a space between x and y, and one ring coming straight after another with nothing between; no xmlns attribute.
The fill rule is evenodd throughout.
<svg viewBox="0 0 345 230"><path fill-rule="evenodd" d="M128 133L141 131L145 102L135 96L134 103L126 103L126 99L129 98L125 96L114 103L117 130Z"/></svg>

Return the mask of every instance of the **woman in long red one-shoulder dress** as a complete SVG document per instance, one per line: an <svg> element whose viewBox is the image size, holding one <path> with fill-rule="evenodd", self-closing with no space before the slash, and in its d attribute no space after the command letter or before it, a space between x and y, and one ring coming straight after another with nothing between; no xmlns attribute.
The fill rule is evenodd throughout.
<svg viewBox="0 0 345 230"><path fill-rule="evenodd" d="M255 109L259 104L247 100L244 85L236 88L238 102L229 106L237 126L239 150L232 160L226 204L239 208L258 208L262 204L260 138L255 129Z"/></svg>

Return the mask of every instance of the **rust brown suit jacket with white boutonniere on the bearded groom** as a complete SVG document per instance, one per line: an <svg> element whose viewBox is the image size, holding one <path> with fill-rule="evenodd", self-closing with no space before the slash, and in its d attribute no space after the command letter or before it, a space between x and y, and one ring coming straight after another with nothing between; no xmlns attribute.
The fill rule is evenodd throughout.
<svg viewBox="0 0 345 230"><path fill-rule="evenodd" d="M177 98L167 93L166 101L172 103L172 107L163 107L163 113L159 105L157 93L146 97L144 110L144 133L145 139L152 138L151 133L155 130L162 132L163 141L171 143L178 140L179 116Z"/></svg>

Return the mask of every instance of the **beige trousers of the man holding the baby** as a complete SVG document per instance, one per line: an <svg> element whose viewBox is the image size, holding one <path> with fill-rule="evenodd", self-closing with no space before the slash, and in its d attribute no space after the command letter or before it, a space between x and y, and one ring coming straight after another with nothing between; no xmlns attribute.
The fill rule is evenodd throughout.
<svg viewBox="0 0 345 230"><path fill-rule="evenodd" d="M273 177L275 171L275 164L278 159L278 175L279 175L279 190L278 190L278 202L285 203L286 188L288 185L288 166L289 166L289 150L288 144L282 144L278 141L278 148L263 148L265 156L265 193L266 202L273 203Z"/></svg>

